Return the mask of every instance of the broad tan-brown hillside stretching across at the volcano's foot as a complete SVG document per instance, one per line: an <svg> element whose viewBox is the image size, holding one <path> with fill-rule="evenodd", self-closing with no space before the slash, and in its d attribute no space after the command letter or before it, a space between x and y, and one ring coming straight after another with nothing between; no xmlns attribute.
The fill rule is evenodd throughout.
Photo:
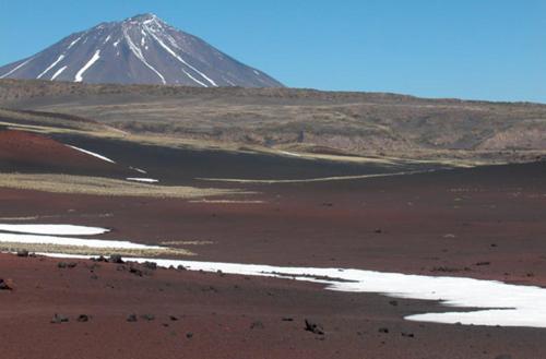
<svg viewBox="0 0 546 359"><path fill-rule="evenodd" d="M0 107L67 113L109 131L158 136L159 142L169 137L214 146L258 145L292 156L546 159L546 105L541 104L294 88L0 80Z"/></svg>

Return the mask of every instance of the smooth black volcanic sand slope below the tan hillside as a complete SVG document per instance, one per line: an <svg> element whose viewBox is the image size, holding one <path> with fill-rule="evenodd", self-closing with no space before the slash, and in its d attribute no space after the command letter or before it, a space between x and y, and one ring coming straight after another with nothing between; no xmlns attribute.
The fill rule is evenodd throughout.
<svg viewBox="0 0 546 359"><path fill-rule="evenodd" d="M55 135L56 140L93 151L119 164L144 169L164 184L195 184L198 178L310 179L335 176L392 173L438 168L434 164L355 164L310 160L295 156L236 153L215 149L170 148L119 140ZM198 181L210 187L210 182ZM223 183L214 186L225 187Z"/></svg>

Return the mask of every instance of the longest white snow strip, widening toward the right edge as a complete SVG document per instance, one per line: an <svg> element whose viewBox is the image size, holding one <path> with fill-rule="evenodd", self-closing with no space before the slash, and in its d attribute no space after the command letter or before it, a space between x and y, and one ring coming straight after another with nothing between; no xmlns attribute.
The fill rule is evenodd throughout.
<svg viewBox="0 0 546 359"><path fill-rule="evenodd" d="M47 254L54 258L90 256ZM329 290L376 292L394 298L440 301L447 307L476 308L466 312L408 315L418 322L465 325L546 327L546 289L464 277L432 277L361 270L280 267L271 265L214 263L157 259L127 259L155 262L162 267L182 265L190 271L292 278L325 285Z"/></svg>

